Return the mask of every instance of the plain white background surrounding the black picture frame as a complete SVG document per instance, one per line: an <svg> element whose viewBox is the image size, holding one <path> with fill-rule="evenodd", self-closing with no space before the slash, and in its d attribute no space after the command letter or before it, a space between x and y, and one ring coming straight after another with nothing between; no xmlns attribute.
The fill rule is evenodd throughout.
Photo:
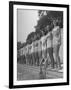
<svg viewBox="0 0 71 90"><path fill-rule="evenodd" d="M18 1L18 0L17 0ZM20 1L20 0L19 0ZM59 3L71 5L71 0L22 0L29 2L45 2L45 3ZM71 9L71 6L70 6ZM71 12L70 12L71 15ZM70 18L71 20L71 18ZM71 31L70 31L71 34ZM70 35L71 38L71 35ZM0 90L8 90L8 72L9 72L9 0L0 0ZM71 62L70 62L71 64ZM70 66L71 68L71 66ZM71 73L70 73L71 74ZM54 86L54 87L38 87L26 88L25 90L70 90L71 79L69 86Z"/></svg>

